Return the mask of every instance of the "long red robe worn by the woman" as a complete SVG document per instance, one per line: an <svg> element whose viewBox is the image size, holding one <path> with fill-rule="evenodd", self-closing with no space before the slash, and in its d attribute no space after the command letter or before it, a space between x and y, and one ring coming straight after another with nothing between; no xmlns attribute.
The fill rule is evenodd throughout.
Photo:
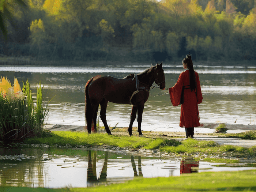
<svg viewBox="0 0 256 192"><path fill-rule="evenodd" d="M200 127L198 104L202 103L202 92L199 82L199 76L196 75L196 91L191 89L184 89L184 103L181 104L180 113L180 127ZM177 83L169 88L170 99L173 106L180 105L182 86L189 87L189 70L182 72L178 78Z"/></svg>

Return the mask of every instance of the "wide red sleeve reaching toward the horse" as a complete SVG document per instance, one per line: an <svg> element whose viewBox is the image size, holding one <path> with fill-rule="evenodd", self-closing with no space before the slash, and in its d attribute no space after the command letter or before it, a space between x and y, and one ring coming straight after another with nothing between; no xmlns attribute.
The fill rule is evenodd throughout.
<svg viewBox="0 0 256 192"><path fill-rule="evenodd" d="M168 89L170 94L170 99L174 107L180 105L183 82L184 82L184 72L180 74L177 83L173 87Z"/></svg>

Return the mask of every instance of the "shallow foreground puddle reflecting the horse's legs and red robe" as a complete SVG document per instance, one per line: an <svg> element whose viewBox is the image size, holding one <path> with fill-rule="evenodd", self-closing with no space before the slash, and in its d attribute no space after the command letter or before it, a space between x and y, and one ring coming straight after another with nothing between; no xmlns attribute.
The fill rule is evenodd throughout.
<svg viewBox="0 0 256 192"><path fill-rule="evenodd" d="M0 186L90 187L135 177L256 169L255 163L208 163L192 158L147 158L57 147L0 148Z"/></svg>

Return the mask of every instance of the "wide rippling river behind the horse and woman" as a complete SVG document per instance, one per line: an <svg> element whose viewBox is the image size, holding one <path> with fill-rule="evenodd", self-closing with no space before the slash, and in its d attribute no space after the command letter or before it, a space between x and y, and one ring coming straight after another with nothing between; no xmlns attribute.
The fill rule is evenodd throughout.
<svg viewBox="0 0 256 192"><path fill-rule="evenodd" d="M181 66L163 65L166 90L151 90L145 103L142 130L144 131L184 131L179 128L180 106L173 107L167 92L174 86ZM107 66L107 67L0 67L0 75L13 82L14 76L22 81L29 80L35 88L41 80L44 95L52 99L49 105L49 124L85 125L84 86L91 77L103 74L123 78L128 74L138 74L150 65ZM199 105L200 123L256 124L256 67L221 67L195 65L202 87L203 103ZM35 93L35 91L33 90ZM154 97L155 96L155 97ZM108 104L109 126L128 127L132 107ZM103 126L101 120L100 125ZM136 127L138 124L133 124ZM195 128L196 132L213 132L213 129Z"/></svg>

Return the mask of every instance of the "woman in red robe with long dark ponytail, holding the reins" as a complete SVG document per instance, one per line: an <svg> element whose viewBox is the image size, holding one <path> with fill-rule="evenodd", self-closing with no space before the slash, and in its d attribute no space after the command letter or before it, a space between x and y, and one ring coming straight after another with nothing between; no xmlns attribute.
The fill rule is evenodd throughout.
<svg viewBox="0 0 256 192"><path fill-rule="evenodd" d="M202 103L203 96L190 54L182 60L182 64L186 71L180 74L177 83L168 90L173 106L181 104L180 127L185 127L187 138L193 138L194 127L200 127L197 105Z"/></svg>

